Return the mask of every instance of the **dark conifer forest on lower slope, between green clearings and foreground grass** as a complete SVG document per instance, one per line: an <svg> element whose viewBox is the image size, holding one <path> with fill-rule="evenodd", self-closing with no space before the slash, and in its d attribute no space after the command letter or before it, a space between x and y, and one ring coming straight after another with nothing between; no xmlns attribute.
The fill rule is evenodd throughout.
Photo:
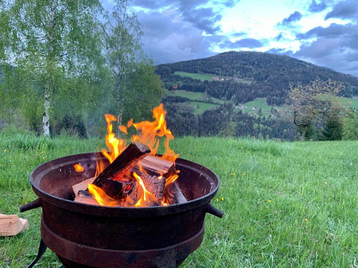
<svg viewBox="0 0 358 268"><path fill-rule="evenodd" d="M187 98L173 96L163 99L168 111L167 126L176 136L249 136L282 140L294 140L297 136L293 124L237 111L231 102L224 103L217 109L204 111L201 115L193 115L185 109L187 101Z"/></svg>

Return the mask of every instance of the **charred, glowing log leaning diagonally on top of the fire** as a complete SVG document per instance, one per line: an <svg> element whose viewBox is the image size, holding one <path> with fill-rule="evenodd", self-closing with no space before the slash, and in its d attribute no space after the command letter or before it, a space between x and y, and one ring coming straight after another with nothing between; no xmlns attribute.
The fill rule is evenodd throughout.
<svg viewBox="0 0 358 268"><path fill-rule="evenodd" d="M147 145L132 142L128 147L120 154L118 157L113 160L108 167L101 172L100 175L93 181L97 187L100 187L104 192L107 192L107 187L105 187L105 182L107 179L121 179L124 174L127 173L138 161L143 159L150 149Z"/></svg>

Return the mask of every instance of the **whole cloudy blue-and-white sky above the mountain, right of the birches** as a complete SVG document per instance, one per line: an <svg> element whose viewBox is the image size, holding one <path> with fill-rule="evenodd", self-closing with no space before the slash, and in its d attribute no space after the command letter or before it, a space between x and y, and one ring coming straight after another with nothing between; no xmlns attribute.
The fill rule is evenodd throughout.
<svg viewBox="0 0 358 268"><path fill-rule="evenodd" d="M130 11L155 64L245 50L358 76L358 0L132 0Z"/></svg>

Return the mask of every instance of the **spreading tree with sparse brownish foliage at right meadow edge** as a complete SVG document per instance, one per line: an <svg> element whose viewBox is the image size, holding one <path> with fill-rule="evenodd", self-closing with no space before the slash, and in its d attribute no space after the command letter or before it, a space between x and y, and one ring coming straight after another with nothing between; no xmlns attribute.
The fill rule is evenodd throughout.
<svg viewBox="0 0 358 268"><path fill-rule="evenodd" d="M281 120L293 121L302 129L301 141L305 140L307 127L314 121L324 118L329 112L340 112L345 106L337 100L336 96L344 89L341 83L332 80L315 80L311 84L301 84L290 92L280 113Z"/></svg>

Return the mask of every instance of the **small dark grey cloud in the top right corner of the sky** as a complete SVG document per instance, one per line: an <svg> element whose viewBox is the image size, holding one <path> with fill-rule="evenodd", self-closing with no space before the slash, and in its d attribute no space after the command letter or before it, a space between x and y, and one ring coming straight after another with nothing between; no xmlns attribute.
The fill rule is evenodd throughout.
<svg viewBox="0 0 358 268"><path fill-rule="evenodd" d="M325 16L325 19L340 18L340 19L352 19L358 20L358 1L346 0L338 2Z"/></svg>

